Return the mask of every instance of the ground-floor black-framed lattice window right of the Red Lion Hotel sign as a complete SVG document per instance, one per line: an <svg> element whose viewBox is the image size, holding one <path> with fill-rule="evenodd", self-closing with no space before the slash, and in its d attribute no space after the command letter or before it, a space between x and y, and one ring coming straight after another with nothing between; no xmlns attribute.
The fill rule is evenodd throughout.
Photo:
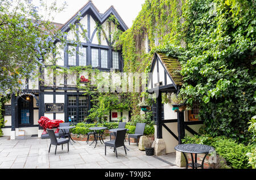
<svg viewBox="0 0 256 180"><path fill-rule="evenodd" d="M87 96L68 96L68 120L72 123L83 122L88 111Z"/></svg>

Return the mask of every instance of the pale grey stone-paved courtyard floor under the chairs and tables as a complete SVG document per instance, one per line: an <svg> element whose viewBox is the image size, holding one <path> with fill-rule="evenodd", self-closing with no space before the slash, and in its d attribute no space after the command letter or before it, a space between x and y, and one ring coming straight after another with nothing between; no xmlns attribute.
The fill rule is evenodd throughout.
<svg viewBox="0 0 256 180"><path fill-rule="evenodd" d="M113 148L107 147L105 156L105 145L98 141L96 148L86 142L75 141L73 145L64 144L57 147L52 145L48 153L49 139L39 139L23 136L19 139L10 140L10 137L0 138L0 168L35 169L35 168L78 168L78 169L175 169L175 154L160 157L146 156L144 151L139 151L136 143L128 144L130 151L122 147L117 148L118 158L115 157ZM108 141L108 137L104 141Z"/></svg>

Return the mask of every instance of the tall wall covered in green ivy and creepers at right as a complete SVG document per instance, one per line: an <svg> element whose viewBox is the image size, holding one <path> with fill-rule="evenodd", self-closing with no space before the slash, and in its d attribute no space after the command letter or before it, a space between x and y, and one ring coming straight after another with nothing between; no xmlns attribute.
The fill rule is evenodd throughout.
<svg viewBox="0 0 256 180"><path fill-rule="evenodd" d="M147 0L118 44L124 71L148 71L155 51L176 55L184 76L181 93L189 104L200 102L204 133L250 142L247 123L256 107L255 9L255 1L246 0ZM150 53L145 52L147 40Z"/></svg>

